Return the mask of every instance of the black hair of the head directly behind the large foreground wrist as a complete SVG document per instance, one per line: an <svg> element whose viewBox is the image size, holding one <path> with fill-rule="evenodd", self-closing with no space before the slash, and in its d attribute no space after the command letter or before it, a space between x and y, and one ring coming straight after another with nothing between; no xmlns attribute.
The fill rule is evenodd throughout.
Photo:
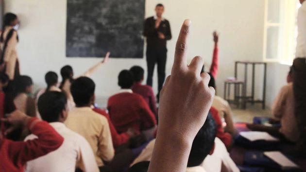
<svg viewBox="0 0 306 172"><path fill-rule="evenodd" d="M214 146L215 138L216 123L211 114L208 113L204 125L193 140L187 167L195 167L203 163L205 157L209 155Z"/></svg>

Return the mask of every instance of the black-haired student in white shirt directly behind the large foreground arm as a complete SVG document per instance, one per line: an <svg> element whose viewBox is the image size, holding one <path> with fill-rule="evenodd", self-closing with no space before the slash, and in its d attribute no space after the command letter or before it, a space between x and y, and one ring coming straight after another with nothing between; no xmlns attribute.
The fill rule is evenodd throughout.
<svg viewBox="0 0 306 172"><path fill-rule="evenodd" d="M215 140L215 141L214 141ZM152 157L155 139L134 160L129 172L147 172ZM146 167L146 168L145 168ZM216 126L208 115L204 126L195 137L188 159L187 172L238 172L238 168L229 154L216 138Z"/></svg>

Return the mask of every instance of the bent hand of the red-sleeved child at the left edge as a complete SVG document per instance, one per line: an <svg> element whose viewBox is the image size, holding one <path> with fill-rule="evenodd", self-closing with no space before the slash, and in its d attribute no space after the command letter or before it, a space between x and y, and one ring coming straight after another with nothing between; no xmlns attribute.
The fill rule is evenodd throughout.
<svg viewBox="0 0 306 172"><path fill-rule="evenodd" d="M31 117L28 117L19 110L16 110L8 115L6 119L0 119L1 122L11 124L11 126L5 131L4 135L11 133L18 128L25 127L30 119Z"/></svg>

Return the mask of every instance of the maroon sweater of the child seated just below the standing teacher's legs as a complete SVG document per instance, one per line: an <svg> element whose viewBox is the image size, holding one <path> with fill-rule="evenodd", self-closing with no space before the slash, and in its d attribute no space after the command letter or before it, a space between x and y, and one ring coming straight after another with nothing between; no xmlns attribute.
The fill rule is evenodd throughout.
<svg viewBox="0 0 306 172"><path fill-rule="evenodd" d="M150 106L151 111L157 115L156 101L152 87L135 83L132 90L134 93L141 95Z"/></svg>

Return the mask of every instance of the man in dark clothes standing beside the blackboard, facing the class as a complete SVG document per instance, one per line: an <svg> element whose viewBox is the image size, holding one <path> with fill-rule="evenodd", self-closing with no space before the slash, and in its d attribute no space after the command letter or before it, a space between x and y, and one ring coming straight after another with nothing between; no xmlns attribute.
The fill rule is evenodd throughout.
<svg viewBox="0 0 306 172"><path fill-rule="evenodd" d="M170 23L162 17L164 13L164 5L157 4L155 7L156 15L146 19L144 24L144 36L147 37L147 67L148 78L147 85L153 85L153 72L157 63L158 74L158 94L163 87L166 77L166 62L167 62L167 40L172 38Z"/></svg>

